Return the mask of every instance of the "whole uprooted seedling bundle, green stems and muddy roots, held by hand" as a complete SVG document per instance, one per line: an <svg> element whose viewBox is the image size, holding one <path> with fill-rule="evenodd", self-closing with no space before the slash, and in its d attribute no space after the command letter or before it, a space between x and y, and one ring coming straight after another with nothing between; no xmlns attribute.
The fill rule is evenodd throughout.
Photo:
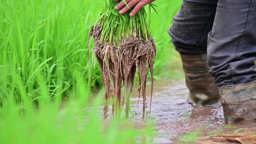
<svg viewBox="0 0 256 144"><path fill-rule="evenodd" d="M146 23L145 9L136 15L129 13L119 15L114 9L113 0L105 0L105 8L97 24L91 28L89 36L94 37L94 56L101 68L104 89L104 118L107 117L110 97L112 96L112 113L120 116L126 99L125 118L129 115L129 99L134 82L136 68L140 79L140 89L143 97L143 118L146 104L146 82L150 70L153 91L153 64L155 62L156 46L149 34ZM124 94L121 98L121 86ZM140 95L139 95L140 97ZM151 107L151 99L150 99Z"/></svg>

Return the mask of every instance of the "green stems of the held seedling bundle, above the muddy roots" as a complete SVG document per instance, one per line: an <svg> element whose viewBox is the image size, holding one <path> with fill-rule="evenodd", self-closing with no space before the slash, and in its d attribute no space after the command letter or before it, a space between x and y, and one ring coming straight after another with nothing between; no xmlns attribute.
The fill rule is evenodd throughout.
<svg viewBox="0 0 256 144"><path fill-rule="evenodd" d="M120 15L114 9L115 6L113 0L106 0L105 9L97 22L97 25L101 25L101 42L120 46L122 39L130 36L138 36L139 40L142 38L148 40L149 29L146 24L145 9L141 9L135 16L129 16L129 13Z"/></svg>

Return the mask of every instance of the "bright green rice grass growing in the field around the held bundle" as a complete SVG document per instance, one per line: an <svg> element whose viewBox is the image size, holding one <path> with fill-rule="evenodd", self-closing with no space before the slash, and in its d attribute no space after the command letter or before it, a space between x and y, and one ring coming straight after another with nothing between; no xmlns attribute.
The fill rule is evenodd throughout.
<svg viewBox="0 0 256 144"><path fill-rule="evenodd" d="M159 16L150 16L156 77L177 61L167 29L181 2L156 1ZM119 132L116 121L104 132L101 96L89 101L102 80L94 59L88 75L87 36L102 7L101 0L0 0L0 144L124 144L140 133Z"/></svg>

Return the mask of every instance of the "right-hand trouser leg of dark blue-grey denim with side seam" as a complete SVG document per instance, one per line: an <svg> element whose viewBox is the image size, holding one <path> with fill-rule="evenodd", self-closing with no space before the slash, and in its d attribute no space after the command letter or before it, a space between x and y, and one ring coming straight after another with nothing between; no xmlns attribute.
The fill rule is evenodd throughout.
<svg viewBox="0 0 256 144"><path fill-rule="evenodd" d="M215 86L256 80L256 0L219 0L207 51Z"/></svg>

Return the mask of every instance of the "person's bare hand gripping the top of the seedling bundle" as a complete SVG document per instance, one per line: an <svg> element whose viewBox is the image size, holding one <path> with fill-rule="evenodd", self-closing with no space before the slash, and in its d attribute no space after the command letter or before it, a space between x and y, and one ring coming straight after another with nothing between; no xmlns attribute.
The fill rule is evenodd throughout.
<svg viewBox="0 0 256 144"><path fill-rule="evenodd" d="M114 0L114 1L119 1L119 0ZM121 1L118 5L116 5L115 9L116 10L120 10L119 13L122 15L124 13L126 13L129 8L134 7L134 9L132 10L132 12L130 13L130 16L134 16L143 6L152 3L155 0L126 0L127 5L124 3L124 1Z"/></svg>

